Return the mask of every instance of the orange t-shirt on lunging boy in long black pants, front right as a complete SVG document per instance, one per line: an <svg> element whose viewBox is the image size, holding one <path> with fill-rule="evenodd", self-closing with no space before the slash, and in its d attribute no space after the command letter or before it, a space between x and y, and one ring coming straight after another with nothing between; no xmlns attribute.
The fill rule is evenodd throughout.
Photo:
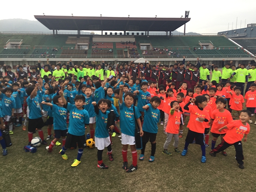
<svg viewBox="0 0 256 192"><path fill-rule="evenodd" d="M250 125L248 123L243 125L240 120L234 120L226 126L228 127L228 130L223 139L228 144L234 144L238 141L241 141L244 137L244 134L248 134L250 132Z"/></svg>

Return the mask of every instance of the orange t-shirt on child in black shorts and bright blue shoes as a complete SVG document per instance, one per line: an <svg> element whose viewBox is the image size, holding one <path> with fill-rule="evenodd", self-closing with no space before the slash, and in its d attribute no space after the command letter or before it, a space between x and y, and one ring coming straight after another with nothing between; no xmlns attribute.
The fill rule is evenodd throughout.
<svg viewBox="0 0 256 192"><path fill-rule="evenodd" d="M188 121L187 127L191 131L194 131L197 133L204 133L206 122L199 121L198 118L202 117L210 120L209 113L205 109L200 110L196 105L189 105L188 108L189 108L188 111L190 112L190 119Z"/></svg>

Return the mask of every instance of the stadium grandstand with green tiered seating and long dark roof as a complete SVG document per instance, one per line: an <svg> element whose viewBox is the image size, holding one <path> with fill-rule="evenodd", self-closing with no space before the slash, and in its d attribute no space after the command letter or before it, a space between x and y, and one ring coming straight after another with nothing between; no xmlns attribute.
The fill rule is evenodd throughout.
<svg viewBox="0 0 256 192"><path fill-rule="evenodd" d="M214 62L220 65L222 59L238 64L254 60L256 54L256 38L234 38L227 36L226 32L172 34L190 18L35 18L52 30L52 34L1 33L0 64L33 66L38 60L47 58L55 62L104 60L116 64L141 57L155 63L173 64L185 56L186 60L196 61L199 57L206 64ZM61 34L58 30L76 30L77 34ZM81 34L81 30L101 31L101 34ZM162 33L151 35L150 31Z"/></svg>

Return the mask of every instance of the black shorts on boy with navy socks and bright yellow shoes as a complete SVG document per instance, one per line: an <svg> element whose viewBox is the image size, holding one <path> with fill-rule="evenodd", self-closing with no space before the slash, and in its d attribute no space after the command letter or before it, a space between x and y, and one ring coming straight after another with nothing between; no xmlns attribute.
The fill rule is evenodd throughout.
<svg viewBox="0 0 256 192"><path fill-rule="evenodd" d="M85 135L76 136L68 133L68 136L66 138L65 148L71 148L76 146L78 146L78 148L86 148Z"/></svg>

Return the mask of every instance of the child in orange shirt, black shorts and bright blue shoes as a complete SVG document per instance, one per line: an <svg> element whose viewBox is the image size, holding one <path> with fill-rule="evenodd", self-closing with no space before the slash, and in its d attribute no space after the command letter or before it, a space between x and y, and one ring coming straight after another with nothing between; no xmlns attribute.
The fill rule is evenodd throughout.
<svg viewBox="0 0 256 192"><path fill-rule="evenodd" d="M194 103L195 105L190 105ZM188 102L184 109L190 112L190 119L188 121L187 127L189 128L188 134L186 137L186 142L184 146L184 150L181 155L185 156L188 152L188 145L196 140L196 144L199 144L202 149L202 158L201 162L206 162L205 156L205 144L204 144L204 130L206 127L206 122L209 122L210 116L208 112L204 109L207 105L207 98L205 96L197 96L196 98L192 98L190 102Z"/></svg>

